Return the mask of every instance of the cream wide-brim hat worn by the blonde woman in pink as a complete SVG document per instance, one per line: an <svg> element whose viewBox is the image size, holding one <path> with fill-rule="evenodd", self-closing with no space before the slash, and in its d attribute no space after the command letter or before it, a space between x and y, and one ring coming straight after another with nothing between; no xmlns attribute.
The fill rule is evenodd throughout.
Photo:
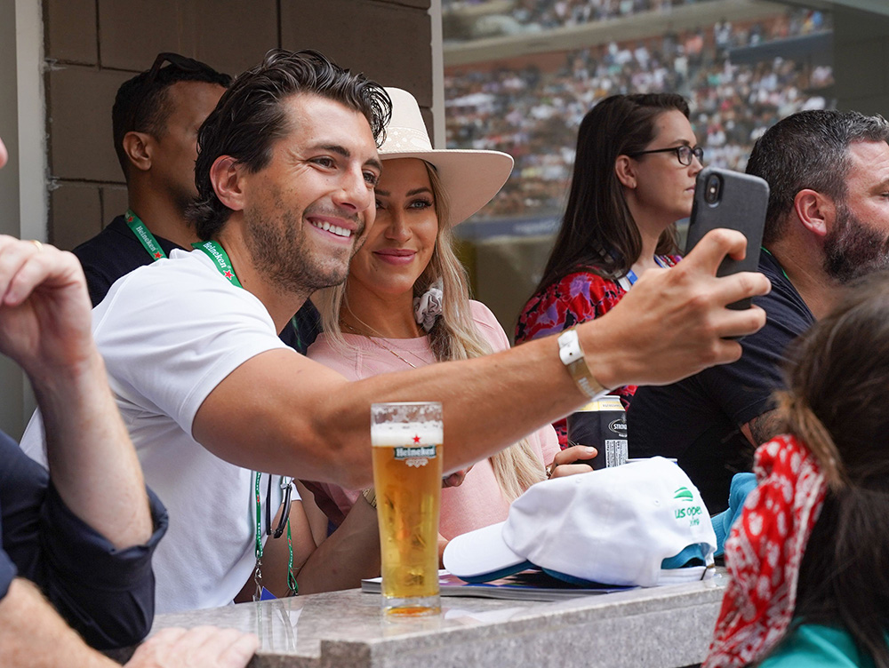
<svg viewBox="0 0 889 668"><path fill-rule="evenodd" d="M392 118L380 147L381 160L420 158L436 168L457 225L489 203L512 171L512 156L501 151L433 148L420 105L408 91L387 88ZM385 166L384 166L385 169Z"/></svg>

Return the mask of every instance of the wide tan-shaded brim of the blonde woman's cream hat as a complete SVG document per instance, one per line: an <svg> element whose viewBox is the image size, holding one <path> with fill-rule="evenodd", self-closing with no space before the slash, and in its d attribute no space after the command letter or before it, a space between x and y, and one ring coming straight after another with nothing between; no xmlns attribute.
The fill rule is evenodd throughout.
<svg viewBox="0 0 889 668"><path fill-rule="evenodd" d="M451 224L468 219L500 192L512 172L512 156L500 151L445 149L380 153L380 160L419 158L436 168L451 204ZM385 169L385 165L383 167Z"/></svg>

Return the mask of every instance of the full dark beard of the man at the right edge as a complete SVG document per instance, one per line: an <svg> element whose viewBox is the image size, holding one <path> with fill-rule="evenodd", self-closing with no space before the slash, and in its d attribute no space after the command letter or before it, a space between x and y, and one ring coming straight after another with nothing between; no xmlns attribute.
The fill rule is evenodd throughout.
<svg viewBox="0 0 889 668"><path fill-rule="evenodd" d="M889 269L889 238L853 216L845 203L824 237L824 271L840 283Z"/></svg>

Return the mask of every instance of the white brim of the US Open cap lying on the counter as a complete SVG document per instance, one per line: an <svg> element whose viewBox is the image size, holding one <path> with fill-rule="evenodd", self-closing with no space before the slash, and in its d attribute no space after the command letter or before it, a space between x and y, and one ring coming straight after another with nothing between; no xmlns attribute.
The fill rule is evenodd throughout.
<svg viewBox="0 0 889 668"><path fill-rule="evenodd" d="M531 568L503 542L504 523L454 537L445 547L445 569L467 582L488 582Z"/></svg>

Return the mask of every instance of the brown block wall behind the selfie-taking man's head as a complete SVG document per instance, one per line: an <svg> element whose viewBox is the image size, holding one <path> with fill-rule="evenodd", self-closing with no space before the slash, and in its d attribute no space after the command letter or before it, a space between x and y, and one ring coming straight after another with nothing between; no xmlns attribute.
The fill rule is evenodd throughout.
<svg viewBox="0 0 889 668"><path fill-rule="evenodd" d="M430 0L44 0L48 238L72 248L126 208L111 139L117 87L178 52L237 74L312 48L432 107ZM410 54L409 56L407 54ZM430 116L427 115L427 121Z"/></svg>

